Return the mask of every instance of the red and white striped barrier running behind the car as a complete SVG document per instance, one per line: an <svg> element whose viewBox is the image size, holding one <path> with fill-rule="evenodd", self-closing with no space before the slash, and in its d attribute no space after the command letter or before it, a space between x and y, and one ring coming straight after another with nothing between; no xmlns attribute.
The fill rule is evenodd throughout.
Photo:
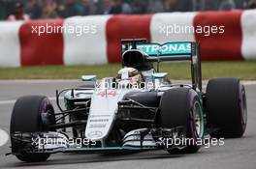
<svg viewBox="0 0 256 169"><path fill-rule="evenodd" d="M201 43L202 60L256 60L256 10L1 21L0 67L121 61L120 40Z"/></svg>

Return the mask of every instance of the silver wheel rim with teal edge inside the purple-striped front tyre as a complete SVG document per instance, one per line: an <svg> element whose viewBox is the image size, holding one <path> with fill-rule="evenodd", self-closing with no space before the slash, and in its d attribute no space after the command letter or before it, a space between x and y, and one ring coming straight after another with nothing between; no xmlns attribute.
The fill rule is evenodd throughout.
<svg viewBox="0 0 256 169"><path fill-rule="evenodd" d="M202 138L204 135L204 118L201 105L198 101L194 103L193 107L193 119L196 135Z"/></svg>

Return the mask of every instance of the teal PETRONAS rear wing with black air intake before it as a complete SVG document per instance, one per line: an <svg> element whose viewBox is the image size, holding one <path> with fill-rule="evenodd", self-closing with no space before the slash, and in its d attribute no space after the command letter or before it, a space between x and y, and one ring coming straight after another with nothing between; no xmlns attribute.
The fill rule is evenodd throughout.
<svg viewBox="0 0 256 169"><path fill-rule="evenodd" d="M145 62L190 61L193 88L202 90L200 44L197 42L146 43L144 39L122 40L122 64L139 68Z"/></svg>

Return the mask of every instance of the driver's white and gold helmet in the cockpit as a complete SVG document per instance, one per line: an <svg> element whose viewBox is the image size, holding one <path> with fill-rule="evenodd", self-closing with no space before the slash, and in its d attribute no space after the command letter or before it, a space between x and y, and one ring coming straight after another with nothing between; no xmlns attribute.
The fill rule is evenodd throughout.
<svg viewBox="0 0 256 169"><path fill-rule="evenodd" d="M116 79L117 81L129 81L132 85L138 85L142 80L142 74L134 68L123 68L118 70Z"/></svg>

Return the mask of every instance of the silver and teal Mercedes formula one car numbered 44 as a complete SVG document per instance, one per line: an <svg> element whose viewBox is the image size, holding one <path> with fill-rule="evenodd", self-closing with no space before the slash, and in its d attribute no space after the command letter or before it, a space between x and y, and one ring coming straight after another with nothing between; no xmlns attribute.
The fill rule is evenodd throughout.
<svg viewBox="0 0 256 169"><path fill-rule="evenodd" d="M192 83L173 83L159 72L163 61L190 61ZM239 79L211 79L203 92L196 42L123 40L122 69L116 77L84 75L82 80L82 87L56 91L58 113L44 96L16 100L12 155L34 162L60 152L196 153L206 135L241 137L246 127Z"/></svg>

